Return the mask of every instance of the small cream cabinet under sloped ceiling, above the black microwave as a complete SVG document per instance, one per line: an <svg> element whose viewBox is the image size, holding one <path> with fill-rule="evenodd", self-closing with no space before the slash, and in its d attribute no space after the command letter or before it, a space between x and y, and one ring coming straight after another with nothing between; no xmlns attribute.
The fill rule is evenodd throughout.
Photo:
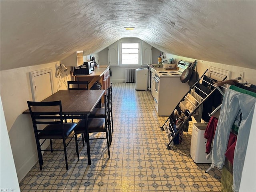
<svg viewBox="0 0 256 192"><path fill-rule="evenodd" d="M65 66L78 67L78 66L84 64L84 52L76 51L72 55L63 59L61 61L61 63L64 64Z"/></svg>

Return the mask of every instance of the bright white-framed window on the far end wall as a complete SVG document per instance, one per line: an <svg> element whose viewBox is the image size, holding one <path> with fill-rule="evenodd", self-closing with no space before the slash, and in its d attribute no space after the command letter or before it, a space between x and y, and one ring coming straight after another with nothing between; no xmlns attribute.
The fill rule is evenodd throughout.
<svg viewBox="0 0 256 192"><path fill-rule="evenodd" d="M141 40L136 38L119 40L119 65L141 65Z"/></svg>

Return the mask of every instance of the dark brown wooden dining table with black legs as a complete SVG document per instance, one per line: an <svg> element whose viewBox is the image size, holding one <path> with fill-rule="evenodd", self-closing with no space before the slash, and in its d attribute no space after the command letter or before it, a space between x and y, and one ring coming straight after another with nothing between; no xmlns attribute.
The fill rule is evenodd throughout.
<svg viewBox="0 0 256 192"><path fill-rule="evenodd" d="M90 156L90 142L88 133L88 115L96 107L105 90L59 90L58 92L52 94L48 98L42 100L46 101L61 101L62 103L62 114L66 116L75 115L81 117L85 122L85 132L86 132L86 146L87 146L87 156L88 164L91 164ZM49 107L48 111L51 111ZM24 111L22 114L30 114L29 110ZM70 119L70 117L68 117Z"/></svg>

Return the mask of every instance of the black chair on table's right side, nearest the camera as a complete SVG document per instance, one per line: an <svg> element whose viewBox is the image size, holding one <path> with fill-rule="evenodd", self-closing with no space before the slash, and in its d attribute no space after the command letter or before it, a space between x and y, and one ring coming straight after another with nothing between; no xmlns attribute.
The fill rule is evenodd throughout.
<svg viewBox="0 0 256 192"><path fill-rule="evenodd" d="M109 146L110 146L110 140L109 140L109 124L108 124L108 100L106 98L107 96L104 96L105 99L105 116L104 118L88 118L88 132L90 133L100 133L100 132L105 132L106 133L106 137L93 137L90 138L86 138L85 136L85 122L84 120L80 120L74 130L75 134L82 134L82 141L83 141L83 146L84 146L84 139L87 140L95 140L95 139L106 139L107 140L107 146L108 146L108 157L110 158L110 150L109 150ZM110 130L111 132L111 130ZM83 136L84 135L84 136Z"/></svg>

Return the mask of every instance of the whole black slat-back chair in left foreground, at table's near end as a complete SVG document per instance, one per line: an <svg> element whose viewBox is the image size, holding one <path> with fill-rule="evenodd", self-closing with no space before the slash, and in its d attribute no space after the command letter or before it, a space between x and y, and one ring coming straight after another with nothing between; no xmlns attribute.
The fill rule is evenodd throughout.
<svg viewBox="0 0 256 192"><path fill-rule="evenodd" d="M32 118L34 134L36 138L36 146L38 152L38 159L40 170L42 170L43 157L42 151L64 151L66 170L68 170L68 160L66 147L70 144L71 140L76 140L76 153L79 160L77 137L74 133L76 123L64 123L64 116L62 114L61 101L51 102L32 102L28 101L28 108ZM42 126L45 126L42 128ZM72 135L72 136L71 136ZM62 140L63 149L53 149L52 140ZM68 139L68 142L66 140ZM40 144L40 140L43 140ZM46 140L50 140L50 149L42 149L41 146Z"/></svg>

